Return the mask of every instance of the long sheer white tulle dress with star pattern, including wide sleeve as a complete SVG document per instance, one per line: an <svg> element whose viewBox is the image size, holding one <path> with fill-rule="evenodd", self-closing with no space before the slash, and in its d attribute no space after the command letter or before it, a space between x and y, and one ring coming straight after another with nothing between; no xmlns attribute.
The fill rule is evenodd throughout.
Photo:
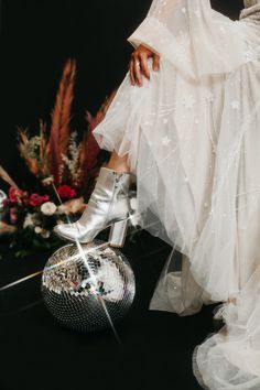
<svg viewBox="0 0 260 390"><path fill-rule="evenodd" d="M160 53L160 72L142 88L127 75L94 136L128 154L142 227L173 247L150 308L224 302L194 373L205 389L259 390L260 0L236 22L209 0L154 0L129 41Z"/></svg>

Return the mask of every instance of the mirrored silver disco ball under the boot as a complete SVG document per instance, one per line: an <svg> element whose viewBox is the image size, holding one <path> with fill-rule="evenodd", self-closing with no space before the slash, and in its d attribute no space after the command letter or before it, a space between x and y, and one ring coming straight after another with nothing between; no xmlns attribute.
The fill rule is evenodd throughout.
<svg viewBox="0 0 260 390"><path fill-rule="evenodd" d="M127 258L104 241L74 243L58 249L42 277L43 300L63 325L97 332L122 319L136 294Z"/></svg>

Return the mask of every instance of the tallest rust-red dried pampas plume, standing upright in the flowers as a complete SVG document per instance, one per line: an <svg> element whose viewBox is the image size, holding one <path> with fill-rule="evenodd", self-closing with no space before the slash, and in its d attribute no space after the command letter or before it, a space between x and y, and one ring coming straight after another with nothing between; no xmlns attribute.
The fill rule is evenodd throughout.
<svg viewBox="0 0 260 390"><path fill-rule="evenodd" d="M67 154L75 74L76 63L74 59L68 59L63 71L55 107L52 113L50 152L52 156L52 173L56 184L61 184L62 155Z"/></svg>

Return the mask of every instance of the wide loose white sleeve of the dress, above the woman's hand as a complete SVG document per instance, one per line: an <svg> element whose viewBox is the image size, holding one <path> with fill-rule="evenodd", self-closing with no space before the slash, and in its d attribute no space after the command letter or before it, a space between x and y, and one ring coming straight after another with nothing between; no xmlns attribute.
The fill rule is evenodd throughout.
<svg viewBox="0 0 260 390"><path fill-rule="evenodd" d="M150 47L192 78L229 73L245 61L239 22L214 11L209 0L153 0L128 41Z"/></svg>

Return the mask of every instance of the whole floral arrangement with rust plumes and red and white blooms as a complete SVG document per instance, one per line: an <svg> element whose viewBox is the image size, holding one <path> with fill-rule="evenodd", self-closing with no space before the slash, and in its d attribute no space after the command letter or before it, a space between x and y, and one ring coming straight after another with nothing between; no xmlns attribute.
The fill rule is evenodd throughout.
<svg viewBox="0 0 260 390"><path fill-rule="evenodd" d="M82 140L69 128L76 63L65 64L50 129L40 121L37 136L19 129L18 148L21 158L36 178L33 189L20 188L0 167L0 177L10 184L4 199L8 209L0 218L0 235L10 235L10 247L17 257L24 257L36 248L55 248L61 240L53 235L53 227L75 220L87 207L95 177L107 159L98 147L93 130L104 119L115 93L106 99L95 117L87 112L87 131ZM1 215L0 215L1 217ZM3 219L3 220L2 220Z"/></svg>

